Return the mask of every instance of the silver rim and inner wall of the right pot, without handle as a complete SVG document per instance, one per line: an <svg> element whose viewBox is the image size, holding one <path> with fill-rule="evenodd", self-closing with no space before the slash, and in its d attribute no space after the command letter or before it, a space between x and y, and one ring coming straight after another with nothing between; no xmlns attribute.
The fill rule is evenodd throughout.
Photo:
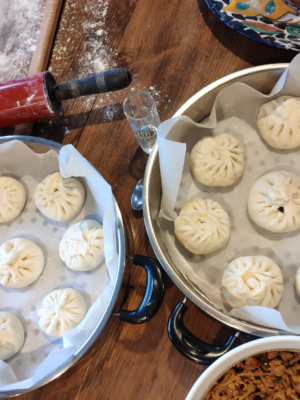
<svg viewBox="0 0 300 400"><path fill-rule="evenodd" d="M211 112L217 94L226 86L241 82L253 87L262 93L270 93L279 77L288 64L274 64L262 67L250 68L239 71L202 89L189 99L174 115L186 115L195 122L202 121ZM290 333L268 327L257 326L237 318L225 315L216 309L201 289L193 283L187 275L181 273L176 266L176 260L172 260L158 225L162 189L159 168L158 144L156 143L149 157L143 187L143 210L145 226L155 254L178 288L203 311L219 321L238 330L253 335L267 337L288 335Z"/></svg>

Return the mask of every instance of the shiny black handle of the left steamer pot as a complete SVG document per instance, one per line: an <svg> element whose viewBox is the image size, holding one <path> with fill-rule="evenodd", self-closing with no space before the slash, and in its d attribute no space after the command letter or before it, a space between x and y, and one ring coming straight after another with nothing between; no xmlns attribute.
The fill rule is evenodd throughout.
<svg viewBox="0 0 300 400"><path fill-rule="evenodd" d="M150 257L136 255L127 257L135 265L145 268L147 283L144 298L140 306L134 311L122 310L119 313L121 321L132 325L144 324L150 321L160 309L165 294L165 275L160 264Z"/></svg>

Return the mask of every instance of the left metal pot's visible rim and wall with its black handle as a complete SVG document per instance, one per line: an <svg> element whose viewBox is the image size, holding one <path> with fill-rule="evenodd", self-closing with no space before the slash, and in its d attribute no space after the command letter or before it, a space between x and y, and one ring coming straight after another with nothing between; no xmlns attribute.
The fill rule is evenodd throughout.
<svg viewBox="0 0 300 400"><path fill-rule="evenodd" d="M55 150L58 153L59 150L63 147L61 144L53 142L51 140L30 136L0 137L0 144L11 140L20 140L25 143L32 151L39 154L46 153L51 149ZM100 173L99 175L101 176ZM37 384L29 389L15 391L0 390L0 398L13 397L32 391L58 378L65 371L71 368L92 347L92 345L94 344L96 339L99 338L100 335L101 337L104 336L116 317L119 317L119 319L123 322L128 322L133 325L142 324L150 321L159 310L163 301L165 291L163 269L156 260L150 257L145 257L141 255L136 255L134 257L126 256L126 230L123 223L121 211L115 197L113 197L113 202L117 219L116 243L119 254L118 271L109 303L104 314L102 315L102 318L98 321L93 333L86 340L83 346L64 364L60 365L51 374L47 375L44 379L40 380L39 382L37 382ZM120 311L129 280L131 261L134 264L143 267L147 272L145 294L140 306L136 310Z"/></svg>

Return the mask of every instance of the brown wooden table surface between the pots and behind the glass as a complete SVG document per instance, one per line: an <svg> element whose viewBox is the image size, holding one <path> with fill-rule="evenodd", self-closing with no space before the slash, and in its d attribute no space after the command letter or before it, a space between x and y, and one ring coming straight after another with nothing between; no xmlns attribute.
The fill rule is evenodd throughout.
<svg viewBox="0 0 300 400"><path fill-rule="evenodd" d="M109 66L128 68L133 90L152 90L162 121L216 79L255 65L290 62L295 56L236 33L215 17L204 0L66 0L49 64L58 82L83 75L83 59L89 61L87 47L99 38L86 26L96 26L103 4ZM92 50L89 54L94 62L97 54ZM122 111L130 91L68 101L64 117L36 122L33 135L73 144L101 172L120 205L129 253L154 257L142 212L130 206L148 158ZM19 399L184 399L205 367L186 360L168 339L168 317L184 296L170 279L166 282L163 305L153 320L132 326L116 319L78 364ZM132 266L124 308L139 305L144 287L145 274ZM221 344L232 332L190 301L187 305L185 323L200 339Z"/></svg>

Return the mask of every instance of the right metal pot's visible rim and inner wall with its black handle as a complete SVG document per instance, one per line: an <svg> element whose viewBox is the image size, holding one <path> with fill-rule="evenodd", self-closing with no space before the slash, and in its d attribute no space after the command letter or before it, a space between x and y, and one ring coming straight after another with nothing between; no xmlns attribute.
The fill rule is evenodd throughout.
<svg viewBox="0 0 300 400"><path fill-rule="evenodd" d="M210 114L220 90L234 82L245 83L262 93L268 94L287 67L288 64L271 64L228 75L196 93L176 112L174 117L186 115L195 122L201 121ZM144 177L143 211L148 236L158 260L173 282L186 296L182 302L176 305L168 322L169 337L177 350L198 364L209 365L237 345L236 339L240 331L260 337L287 335L288 332L285 331L254 325L225 315L216 309L203 292L177 269L168 254L157 224L161 195L158 144L156 143L149 157ZM211 346L199 340L183 324L183 315L187 310L185 304L187 298L218 321L235 328L237 333L230 336L227 342L220 347Z"/></svg>

